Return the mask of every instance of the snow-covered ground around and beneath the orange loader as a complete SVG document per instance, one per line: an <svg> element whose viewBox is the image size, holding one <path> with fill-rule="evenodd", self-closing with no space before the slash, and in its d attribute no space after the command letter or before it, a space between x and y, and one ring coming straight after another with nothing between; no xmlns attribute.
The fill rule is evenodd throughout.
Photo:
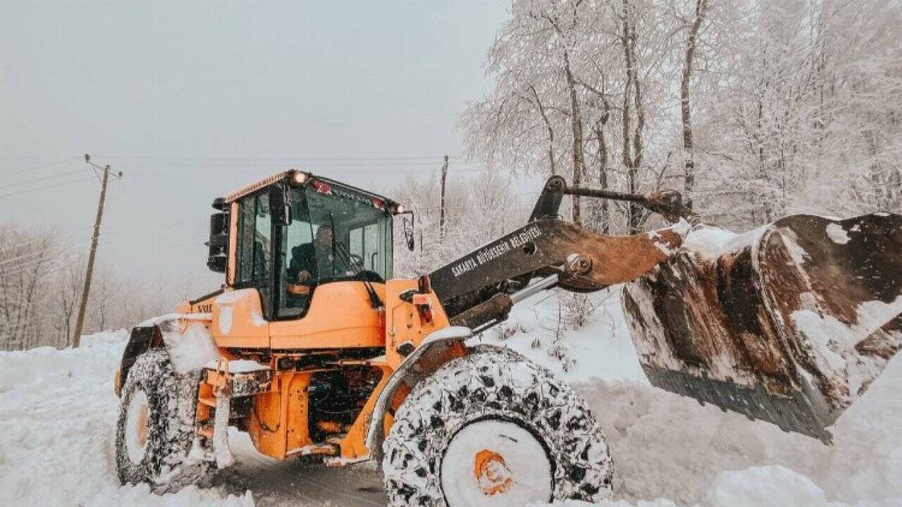
<svg viewBox="0 0 902 507"><path fill-rule="evenodd" d="M547 364L589 400L612 447L608 506L902 505L902 360L896 358L834 429L832 447L651 388L617 294L591 298L589 325L556 342L557 296L514 309L512 335L487 333ZM533 342L538 340L536 347ZM378 471L280 463L233 434L237 464L214 487L163 496L115 477L112 375L124 332L78 350L0 353L0 505L384 504ZM549 355L563 344L568 366ZM562 354L561 354L562 353ZM567 505L585 505L570 502Z"/></svg>

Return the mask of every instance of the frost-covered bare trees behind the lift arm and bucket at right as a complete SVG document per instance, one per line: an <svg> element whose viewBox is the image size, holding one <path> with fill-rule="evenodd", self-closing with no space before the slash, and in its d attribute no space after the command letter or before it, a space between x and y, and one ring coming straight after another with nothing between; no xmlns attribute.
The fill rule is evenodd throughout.
<svg viewBox="0 0 902 507"><path fill-rule="evenodd" d="M684 192L747 228L800 211L902 209L897 0L514 0L469 155L575 185ZM574 199L638 231L638 207Z"/></svg>

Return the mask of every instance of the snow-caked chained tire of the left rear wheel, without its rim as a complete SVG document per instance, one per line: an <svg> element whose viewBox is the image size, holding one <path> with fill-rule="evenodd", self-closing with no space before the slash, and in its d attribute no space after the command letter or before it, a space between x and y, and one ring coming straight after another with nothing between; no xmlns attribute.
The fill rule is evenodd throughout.
<svg viewBox="0 0 902 507"><path fill-rule="evenodd" d="M116 422L115 461L123 484L150 483L154 491L165 493L207 481L213 463L204 456L189 456L198 438L194 419L199 381L199 372L176 373L165 350L138 357L125 380ZM133 396L141 392L150 410L143 458L133 463L125 436L127 412Z"/></svg>

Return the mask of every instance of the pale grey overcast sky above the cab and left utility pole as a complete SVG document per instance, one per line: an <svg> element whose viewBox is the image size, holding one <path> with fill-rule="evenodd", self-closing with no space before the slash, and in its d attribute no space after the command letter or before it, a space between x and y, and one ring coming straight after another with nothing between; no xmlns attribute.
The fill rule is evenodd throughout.
<svg viewBox="0 0 902 507"><path fill-rule="evenodd" d="M145 280L206 272L210 202L305 167L390 189L460 153L509 3L0 1L0 221ZM477 166L452 160L452 171Z"/></svg>

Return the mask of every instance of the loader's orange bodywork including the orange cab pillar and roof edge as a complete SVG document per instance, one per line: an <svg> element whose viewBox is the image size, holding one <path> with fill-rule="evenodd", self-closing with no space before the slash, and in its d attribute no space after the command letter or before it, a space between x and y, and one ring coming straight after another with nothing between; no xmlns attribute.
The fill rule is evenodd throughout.
<svg viewBox="0 0 902 507"><path fill-rule="evenodd" d="M272 372L262 392L233 401L230 424L249 433L258 451L277 459L324 455L328 464L341 466L370 456L365 439L382 388L405 355L447 327L448 318L434 292L418 293L417 304L402 300L402 292L418 290L418 281L397 279L370 284L382 309L373 308L364 281L333 281L312 290L302 317L264 318L261 290L236 287L237 202L280 180L264 179L226 198L226 283L219 293L182 303L179 314L204 316L224 364L250 360ZM440 360L456 355L465 355L462 344ZM197 410L202 436L212 438L214 400L230 375L207 370L203 377ZM319 394L323 390L330 393ZM395 392L391 405L400 405L407 392ZM328 396L345 399L336 404ZM391 416L383 422L387 431Z"/></svg>

